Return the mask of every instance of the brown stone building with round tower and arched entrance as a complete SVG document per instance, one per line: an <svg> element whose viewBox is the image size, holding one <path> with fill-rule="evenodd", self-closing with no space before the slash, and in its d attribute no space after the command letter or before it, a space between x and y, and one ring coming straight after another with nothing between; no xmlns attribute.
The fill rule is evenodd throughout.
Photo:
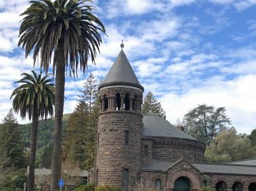
<svg viewBox="0 0 256 191"><path fill-rule="evenodd" d="M99 87L96 167L89 181L129 190L141 182L158 190L256 191L256 159L209 164L205 145L149 113L141 114L143 86L124 51Z"/></svg>

